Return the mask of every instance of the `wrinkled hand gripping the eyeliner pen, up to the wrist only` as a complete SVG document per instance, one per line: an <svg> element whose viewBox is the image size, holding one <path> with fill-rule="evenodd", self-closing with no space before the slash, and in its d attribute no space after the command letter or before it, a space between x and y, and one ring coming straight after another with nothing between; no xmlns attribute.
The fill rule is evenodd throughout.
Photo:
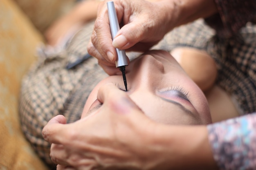
<svg viewBox="0 0 256 170"><path fill-rule="evenodd" d="M115 48L126 51L147 51L172 29L169 21L175 22L174 19L171 20L175 15L170 12L173 8L170 2L114 0L119 24L123 27L120 26L121 29L116 35L119 40L115 38L112 41L106 2L102 2L98 7L94 30L87 49L90 55L98 59L106 73L115 75L117 73Z"/></svg>

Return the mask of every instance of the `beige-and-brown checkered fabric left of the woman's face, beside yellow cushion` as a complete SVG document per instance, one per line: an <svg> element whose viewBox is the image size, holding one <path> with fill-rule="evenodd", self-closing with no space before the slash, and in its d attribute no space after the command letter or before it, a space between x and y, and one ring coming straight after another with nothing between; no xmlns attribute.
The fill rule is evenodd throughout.
<svg viewBox="0 0 256 170"><path fill-rule="evenodd" d="M22 130L38 155L52 169L56 165L49 157L50 144L41 134L43 127L59 114L67 118L67 123L80 119L90 91L107 76L94 57L75 68L66 69L67 63L87 53L92 28L93 23L84 27L61 52L49 53L43 49L38 62L22 81L19 109Z"/></svg>

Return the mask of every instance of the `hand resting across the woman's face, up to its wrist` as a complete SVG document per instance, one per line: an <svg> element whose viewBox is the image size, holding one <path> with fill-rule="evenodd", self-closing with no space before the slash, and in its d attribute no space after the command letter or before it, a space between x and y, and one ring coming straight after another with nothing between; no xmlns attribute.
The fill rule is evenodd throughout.
<svg viewBox="0 0 256 170"><path fill-rule="evenodd" d="M113 84L99 90L98 100L103 105L88 117L66 124L58 115L43 129L58 169L149 169L145 163L152 166L153 157L148 155L156 152L147 129L154 129L155 123Z"/></svg>

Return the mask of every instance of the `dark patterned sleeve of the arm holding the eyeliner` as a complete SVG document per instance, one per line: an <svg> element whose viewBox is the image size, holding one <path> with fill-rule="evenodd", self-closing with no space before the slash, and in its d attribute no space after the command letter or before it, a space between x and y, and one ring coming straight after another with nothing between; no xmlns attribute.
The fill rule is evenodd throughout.
<svg viewBox="0 0 256 170"><path fill-rule="evenodd" d="M218 14L205 21L220 37L230 37L256 16L255 0L215 0Z"/></svg>

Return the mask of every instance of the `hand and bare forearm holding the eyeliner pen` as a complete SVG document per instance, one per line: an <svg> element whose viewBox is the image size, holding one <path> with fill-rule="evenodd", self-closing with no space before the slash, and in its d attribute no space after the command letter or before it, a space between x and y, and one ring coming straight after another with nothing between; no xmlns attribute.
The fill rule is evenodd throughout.
<svg viewBox="0 0 256 170"><path fill-rule="evenodd" d="M110 33L107 2L101 2L87 46L109 75L115 75L115 48L145 52L173 28L218 12L214 0L113 0L121 29Z"/></svg>

